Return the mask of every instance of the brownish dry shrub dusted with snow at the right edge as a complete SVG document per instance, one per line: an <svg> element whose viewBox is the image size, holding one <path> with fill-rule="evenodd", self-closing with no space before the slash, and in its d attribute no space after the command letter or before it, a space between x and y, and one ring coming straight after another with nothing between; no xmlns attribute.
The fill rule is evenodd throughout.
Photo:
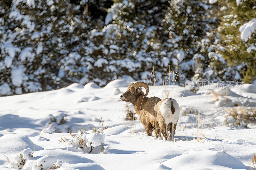
<svg viewBox="0 0 256 170"><path fill-rule="evenodd" d="M230 108L225 110L224 122L228 127L237 129L255 128L256 127L256 109L255 108Z"/></svg>

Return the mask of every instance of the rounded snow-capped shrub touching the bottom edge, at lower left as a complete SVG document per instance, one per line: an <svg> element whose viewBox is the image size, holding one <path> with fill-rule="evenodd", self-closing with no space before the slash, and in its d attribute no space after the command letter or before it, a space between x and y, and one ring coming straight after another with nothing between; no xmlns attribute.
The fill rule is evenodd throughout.
<svg viewBox="0 0 256 170"><path fill-rule="evenodd" d="M57 169L60 166L60 160L56 159L55 156L45 155L34 162L32 170Z"/></svg>

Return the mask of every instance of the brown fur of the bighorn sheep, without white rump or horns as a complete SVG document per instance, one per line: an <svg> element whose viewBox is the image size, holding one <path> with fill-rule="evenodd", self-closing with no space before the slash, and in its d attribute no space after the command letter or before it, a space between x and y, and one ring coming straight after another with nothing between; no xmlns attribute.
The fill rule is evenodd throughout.
<svg viewBox="0 0 256 170"><path fill-rule="evenodd" d="M164 117L162 114L158 114L157 112L162 102L168 99L161 100L158 97L144 97L144 93L141 91L141 88L135 89L134 87L128 87L127 92L125 92L120 99L132 103L136 113L139 115L140 122L145 127L149 136L152 135L152 130L154 129L156 137L158 137L161 130L165 140L167 140L168 136L166 133Z"/></svg>

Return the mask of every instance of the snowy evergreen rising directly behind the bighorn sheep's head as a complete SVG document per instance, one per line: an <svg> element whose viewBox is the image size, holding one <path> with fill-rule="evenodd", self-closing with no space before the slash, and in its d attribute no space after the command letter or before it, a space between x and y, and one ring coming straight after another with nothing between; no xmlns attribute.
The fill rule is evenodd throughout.
<svg viewBox="0 0 256 170"><path fill-rule="evenodd" d="M167 7L168 1L130 0L114 1L108 9L107 18L113 22L106 27L106 33L110 33L111 41L119 47L114 55L119 59L116 64L121 67L121 75L153 79L154 67L159 84L168 77L172 61L166 49L170 43L162 26Z"/></svg>

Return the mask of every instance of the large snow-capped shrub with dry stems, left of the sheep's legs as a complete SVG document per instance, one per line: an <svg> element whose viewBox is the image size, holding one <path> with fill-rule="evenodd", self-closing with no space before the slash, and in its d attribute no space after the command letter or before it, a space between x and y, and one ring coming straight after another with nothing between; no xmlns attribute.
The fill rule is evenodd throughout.
<svg viewBox="0 0 256 170"><path fill-rule="evenodd" d="M104 129L107 128L108 127L105 127ZM75 148L80 148L83 152L88 151L91 153L94 148L98 148L100 152L103 152L105 149L103 144L105 135L102 131L104 129L93 128L91 133L87 133L86 129L81 129L78 131L78 135L69 133L73 139L68 140L66 137L64 137L66 140L61 138L59 141L62 143L71 144Z"/></svg>

